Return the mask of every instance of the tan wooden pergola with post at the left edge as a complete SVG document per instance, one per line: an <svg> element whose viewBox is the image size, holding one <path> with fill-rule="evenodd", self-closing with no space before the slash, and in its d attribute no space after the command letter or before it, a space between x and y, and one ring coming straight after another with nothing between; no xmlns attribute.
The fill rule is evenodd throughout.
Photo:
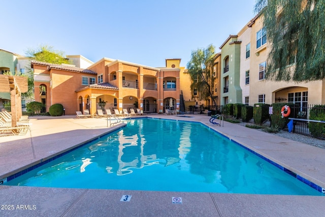
<svg viewBox="0 0 325 217"><path fill-rule="evenodd" d="M12 127L22 116L21 93L28 91L27 77L0 75L0 92L10 92Z"/></svg>

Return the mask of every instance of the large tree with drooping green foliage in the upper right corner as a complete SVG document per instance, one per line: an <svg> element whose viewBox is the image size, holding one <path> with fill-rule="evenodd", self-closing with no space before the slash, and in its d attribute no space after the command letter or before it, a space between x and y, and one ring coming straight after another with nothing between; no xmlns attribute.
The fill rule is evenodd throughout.
<svg viewBox="0 0 325 217"><path fill-rule="evenodd" d="M302 82L325 78L325 1L257 0L255 11L264 17L271 47L266 79Z"/></svg>

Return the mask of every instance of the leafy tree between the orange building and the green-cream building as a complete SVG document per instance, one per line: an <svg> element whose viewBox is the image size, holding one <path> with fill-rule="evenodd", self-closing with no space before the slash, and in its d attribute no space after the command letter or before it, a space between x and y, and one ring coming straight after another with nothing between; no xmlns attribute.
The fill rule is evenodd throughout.
<svg viewBox="0 0 325 217"><path fill-rule="evenodd" d="M191 78L191 90L197 89L199 100L210 97L214 105L217 104L212 96L214 78L211 76L213 70L213 57L215 47L209 45L206 49L199 48L191 52L191 58L187 63L187 71Z"/></svg>

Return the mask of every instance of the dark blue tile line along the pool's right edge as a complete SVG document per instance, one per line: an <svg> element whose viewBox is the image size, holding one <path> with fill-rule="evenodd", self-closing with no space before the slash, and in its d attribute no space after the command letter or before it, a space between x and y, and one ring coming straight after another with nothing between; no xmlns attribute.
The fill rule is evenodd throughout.
<svg viewBox="0 0 325 217"><path fill-rule="evenodd" d="M203 123L202 123L202 124L203 124ZM204 125L204 124L203 124L203 125ZM204 126L206 126L206 125L204 125ZM208 127L208 126L206 126L206 127ZM208 127L208 128L210 128L210 127ZM287 168L285 168L285 167L283 167L283 166L281 166L281 165L275 163L274 161L272 161L272 160L270 160L270 159L264 157L262 154L259 154L259 153L257 153L256 151L254 151L254 150L252 150L252 149L250 149L250 148L248 148L248 147L246 147L246 146L240 144L239 142L232 140L232 139L229 138L228 136L225 136L225 135L219 133L218 131L214 130L213 128L210 128L210 129L213 130L213 131L215 131L216 133L220 134L220 135L223 136L224 138L231 140L231 141L234 142L235 144L237 144L237 145L239 145L239 146L245 148L245 149L248 150L249 152L251 152L251 153L255 154L256 156L258 156L259 158L262 158L262 159L264 159L265 161L269 162L270 164L276 166L276 167L279 168L280 170L282 170L282 171L288 173L289 175L291 175L291 176L297 178L298 180L304 182L305 184L309 185L311 188L317 190L318 192L323 193L323 192L322 192L323 189L322 189L319 185L313 183L312 181L310 181L310 180L308 180L308 179L306 179L306 178L304 178L304 177L302 177L302 176L300 176L300 175L294 173L293 171L291 171L291 170L289 170L289 169L287 169Z"/></svg>

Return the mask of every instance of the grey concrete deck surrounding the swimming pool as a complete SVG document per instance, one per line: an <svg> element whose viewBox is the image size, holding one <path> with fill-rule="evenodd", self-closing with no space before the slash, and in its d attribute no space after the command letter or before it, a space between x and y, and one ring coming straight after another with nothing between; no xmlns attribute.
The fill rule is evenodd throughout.
<svg viewBox="0 0 325 217"><path fill-rule="evenodd" d="M325 149L209 116L148 115L199 121L325 188ZM30 117L26 135L0 137L0 180L108 131L104 118ZM129 202L120 201L132 195ZM324 216L325 197L60 189L0 185L0 216ZM173 204L172 197L182 198Z"/></svg>

